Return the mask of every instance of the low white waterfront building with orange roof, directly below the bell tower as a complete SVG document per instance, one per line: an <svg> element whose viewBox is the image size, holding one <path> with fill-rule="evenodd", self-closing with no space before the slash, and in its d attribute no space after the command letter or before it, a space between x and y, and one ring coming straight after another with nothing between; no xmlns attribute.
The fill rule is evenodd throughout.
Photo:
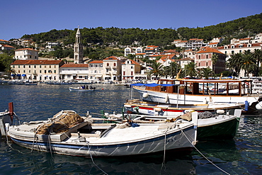
<svg viewBox="0 0 262 175"><path fill-rule="evenodd" d="M89 64L63 64L59 67L59 78L62 80L88 80Z"/></svg>

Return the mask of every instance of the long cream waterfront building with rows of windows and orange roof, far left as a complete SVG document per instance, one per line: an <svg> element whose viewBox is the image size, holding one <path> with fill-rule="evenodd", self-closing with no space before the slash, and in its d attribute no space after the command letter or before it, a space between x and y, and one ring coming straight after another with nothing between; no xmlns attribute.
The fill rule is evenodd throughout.
<svg viewBox="0 0 262 175"><path fill-rule="evenodd" d="M16 60L11 64L16 74L13 79L32 79L35 81L59 80L59 67L62 60Z"/></svg>

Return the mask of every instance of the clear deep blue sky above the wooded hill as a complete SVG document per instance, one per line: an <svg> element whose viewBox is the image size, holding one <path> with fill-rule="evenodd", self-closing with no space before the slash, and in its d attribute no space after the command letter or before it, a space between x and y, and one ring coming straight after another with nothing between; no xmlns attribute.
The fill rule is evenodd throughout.
<svg viewBox="0 0 262 175"><path fill-rule="evenodd" d="M8 0L0 39L52 29L204 27L262 13L261 0Z"/></svg>

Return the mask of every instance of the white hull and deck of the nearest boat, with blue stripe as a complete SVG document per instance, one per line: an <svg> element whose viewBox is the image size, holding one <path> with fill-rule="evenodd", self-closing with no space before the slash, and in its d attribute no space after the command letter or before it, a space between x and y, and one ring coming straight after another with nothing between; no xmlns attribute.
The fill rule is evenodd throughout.
<svg viewBox="0 0 262 175"><path fill-rule="evenodd" d="M159 127L159 124L150 128L152 127ZM8 135L13 142L28 149L79 157L118 157L173 150L184 150L185 152L193 150L196 132L193 123L184 128L176 127L169 130L166 128L166 130L160 132L156 130L156 132L159 132L156 135L143 134L148 128L148 125L125 129L113 128L103 137L86 138L86 142L77 142L78 137L70 137L62 142L48 142L48 139L41 141L36 140L41 135L32 135L31 133L28 136L23 132L17 132L15 129L10 129ZM140 136L137 134L139 132ZM122 140L118 138L118 135ZM137 135L136 139L130 140L129 138L132 135ZM72 142L72 140L76 140L76 142Z"/></svg>

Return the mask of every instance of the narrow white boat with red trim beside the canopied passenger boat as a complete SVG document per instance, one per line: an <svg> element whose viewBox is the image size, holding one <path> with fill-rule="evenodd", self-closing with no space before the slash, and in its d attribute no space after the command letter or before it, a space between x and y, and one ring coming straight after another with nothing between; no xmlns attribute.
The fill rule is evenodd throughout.
<svg viewBox="0 0 262 175"><path fill-rule="evenodd" d="M190 111L197 111L199 113L210 111L212 113L227 113L229 110L244 108L243 103L208 103L208 104L191 104L191 105L173 105L166 103L155 103L148 101L139 101L134 99L124 103L124 107L128 113L139 113L145 115L164 115L176 117L188 113Z"/></svg>

